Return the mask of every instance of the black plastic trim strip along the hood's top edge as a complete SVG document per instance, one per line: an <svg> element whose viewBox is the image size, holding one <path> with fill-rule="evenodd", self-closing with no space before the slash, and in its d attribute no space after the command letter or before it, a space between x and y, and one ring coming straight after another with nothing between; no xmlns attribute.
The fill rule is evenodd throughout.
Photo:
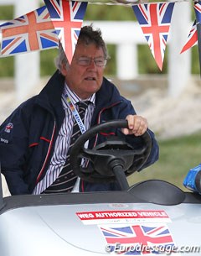
<svg viewBox="0 0 201 256"><path fill-rule="evenodd" d="M201 196L193 192L183 192L184 199L180 203L201 204ZM57 206L99 203L147 203L133 195L133 191L104 191L70 194L49 194L39 196L8 196L3 198L4 206L0 214L20 207ZM162 204L164 205L164 203Z"/></svg>

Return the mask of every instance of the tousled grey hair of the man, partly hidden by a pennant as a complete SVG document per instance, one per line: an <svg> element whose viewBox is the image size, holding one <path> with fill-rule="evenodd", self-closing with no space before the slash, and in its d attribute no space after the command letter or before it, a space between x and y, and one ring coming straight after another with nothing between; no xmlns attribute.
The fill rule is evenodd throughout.
<svg viewBox="0 0 201 256"><path fill-rule="evenodd" d="M106 43L102 38L101 30L93 29L92 24L90 24L90 26L84 26L80 29L80 35L77 44L95 44L97 48L102 48L104 57L106 59L109 58ZM59 54L55 59L55 65L59 71L61 70L62 65L66 65L66 67L70 65L61 44L59 44Z"/></svg>

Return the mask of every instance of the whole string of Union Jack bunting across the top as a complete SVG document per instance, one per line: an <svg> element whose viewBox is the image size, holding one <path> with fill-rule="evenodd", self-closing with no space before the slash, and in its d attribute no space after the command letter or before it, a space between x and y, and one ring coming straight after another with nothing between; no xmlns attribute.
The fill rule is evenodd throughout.
<svg viewBox="0 0 201 256"><path fill-rule="evenodd" d="M58 48L60 42L71 62L87 2L44 0L44 3L43 7L0 25L0 57ZM175 4L139 3L131 6L161 71ZM193 8L196 18L180 54L198 44L198 36L201 37L198 34L201 33L198 30L198 25L201 26L201 1L194 2Z"/></svg>

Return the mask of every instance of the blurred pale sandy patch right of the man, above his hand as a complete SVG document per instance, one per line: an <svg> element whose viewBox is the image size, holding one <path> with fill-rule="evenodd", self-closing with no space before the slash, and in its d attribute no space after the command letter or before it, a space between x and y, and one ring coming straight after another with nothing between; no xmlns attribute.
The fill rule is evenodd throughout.
<svg viewBox="0 0 201 256"><path fill-rule="evenodd" d="M137 112L146 117L160 138L173 138L201 130L201 81L191 83L179 97L160 88L132 98Z"/></svg>

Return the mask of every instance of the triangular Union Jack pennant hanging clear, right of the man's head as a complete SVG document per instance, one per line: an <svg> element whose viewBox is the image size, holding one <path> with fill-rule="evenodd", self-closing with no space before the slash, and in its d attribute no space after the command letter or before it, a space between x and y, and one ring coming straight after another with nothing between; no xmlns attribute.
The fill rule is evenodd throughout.
<svg viewBox="0 0 201 256"><path fill-rule="evenodd" d="M162 70L173 7L174 3L145 3L132 6L160 70Z"/></svg>

